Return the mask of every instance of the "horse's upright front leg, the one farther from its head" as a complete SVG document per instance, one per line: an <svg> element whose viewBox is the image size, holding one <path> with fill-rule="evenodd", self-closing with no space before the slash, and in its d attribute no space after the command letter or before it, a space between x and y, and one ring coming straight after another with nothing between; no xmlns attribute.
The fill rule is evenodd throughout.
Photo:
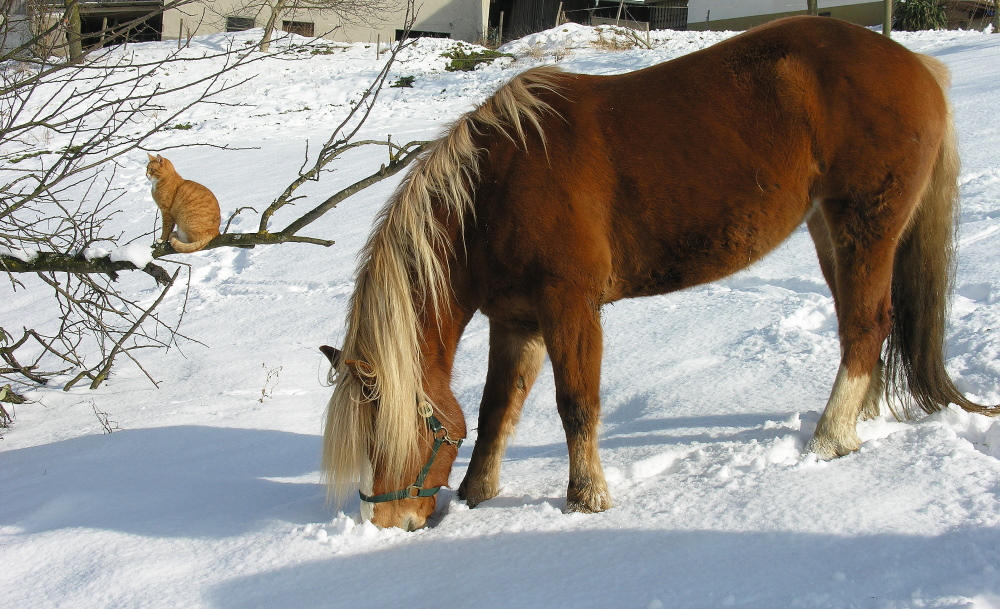
<svg viewBox="0 0 1000 609"><path fill-rule="evenodd" d="M596 293L548 288L539 321L552 361L556 405L569 449L566 509L601 512L612 506L597 450L603 336Z"/></svg>

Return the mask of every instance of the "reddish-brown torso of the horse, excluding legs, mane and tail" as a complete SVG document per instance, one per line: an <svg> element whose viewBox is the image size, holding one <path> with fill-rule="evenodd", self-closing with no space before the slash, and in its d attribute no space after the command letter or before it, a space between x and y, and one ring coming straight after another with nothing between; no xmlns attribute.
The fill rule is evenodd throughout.
<svg viewBox="0 0 1000 609"><path fill-rule="evenodd" d="M814 200L910 179L885 168L927 153L947 113L917 55L817 18L628 74L567 74L545 101L544 147L484 146L483 255L508 292L561 278L603 302L726 276Z"/></svg>

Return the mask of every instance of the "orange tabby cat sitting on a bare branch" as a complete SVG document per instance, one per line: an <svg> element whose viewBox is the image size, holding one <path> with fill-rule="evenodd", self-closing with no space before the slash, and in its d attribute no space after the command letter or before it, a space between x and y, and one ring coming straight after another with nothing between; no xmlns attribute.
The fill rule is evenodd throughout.
<svg viewBox="0 0 1000 609"><path fill-rule="evenodd" d="M174 164L149 153L146 177L153 183L153 200L163 214L163 233L157 243L183 253L197 252L219 234L219 201L212 191L177 174ZM177 226L177 232L171 234Z"/></svg>

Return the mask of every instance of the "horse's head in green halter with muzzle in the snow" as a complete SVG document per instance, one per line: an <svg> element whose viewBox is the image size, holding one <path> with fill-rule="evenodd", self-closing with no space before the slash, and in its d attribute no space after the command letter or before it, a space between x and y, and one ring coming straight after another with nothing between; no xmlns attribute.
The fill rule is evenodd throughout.
<svg viewBox="0 0 1000 609"><path fill-rule="evenodd" d="M361 360L343 359L341 351L334 347L323 345L320 351L334 370L346 368L353 377L351 381L360 383L362 400L357 407L367 409L363 416L371 418L373 433L368 434L367 464L360 477L362 515L382 528L413 531L425 526L437 505L437 492L448 484L448 474L465 435L464 420L449 430L448 423L454 417L440 412L426 397L414 395L412 408L421 420L416 446L406 458L396 459L401 464L390 466L377 440L382 436L378 411L386 406L376 390L374 368Z"/></svg>

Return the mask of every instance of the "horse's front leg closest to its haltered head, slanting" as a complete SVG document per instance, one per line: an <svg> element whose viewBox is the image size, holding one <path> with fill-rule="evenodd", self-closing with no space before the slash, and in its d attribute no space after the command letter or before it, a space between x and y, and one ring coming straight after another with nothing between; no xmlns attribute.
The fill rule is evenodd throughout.
<svg viewBox="0 0 1000 609"><path fill-rule="evenodd" d="M545 344L537 327L490 321L490 362L479 404L479 435L458 487L458 496L469 506L500 492L500 463L507 438L514 433L544 359Z"/></svg>

